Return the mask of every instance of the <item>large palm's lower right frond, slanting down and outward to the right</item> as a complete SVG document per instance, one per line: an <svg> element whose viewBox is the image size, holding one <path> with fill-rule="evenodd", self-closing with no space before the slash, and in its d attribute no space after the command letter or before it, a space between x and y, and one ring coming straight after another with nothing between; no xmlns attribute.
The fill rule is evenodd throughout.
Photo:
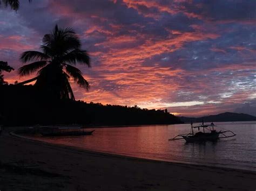
<svg viewBox="0 0 256 191"><path fill-rule="evenodd" d="M82 72L71 65L65 65L66 66L66 73L68 73L71 77L73 77L74 81L80 86L85 88L87 91L90 88L89 83L84 79Z"/></svg>

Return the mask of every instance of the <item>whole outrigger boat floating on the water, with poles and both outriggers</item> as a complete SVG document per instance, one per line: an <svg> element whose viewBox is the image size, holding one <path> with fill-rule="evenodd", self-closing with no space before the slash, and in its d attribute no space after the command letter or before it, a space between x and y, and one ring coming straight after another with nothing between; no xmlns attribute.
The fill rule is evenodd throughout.
<svg viewBox="0 0 256 191"><path fill-rule="evenodd" d="M218 139L236 136L235 133L232 131L216 131L214 130L215 126L217 125L214 125L214 123L211 123L210 125L204 125L204 122L199 126L193 126L193 123L191 122L190 133L177 135L176 137L169 139L169 141L185 139L186 142L206 142L206 141L214 142ZM195 128L197 128L199 132L194 133L193 129ZM203 132L200 131L200 128L203 128ZM205 129L208 130L209 132L205 132ZM230 135L225 135L225 133L229 133Z"/></svg>

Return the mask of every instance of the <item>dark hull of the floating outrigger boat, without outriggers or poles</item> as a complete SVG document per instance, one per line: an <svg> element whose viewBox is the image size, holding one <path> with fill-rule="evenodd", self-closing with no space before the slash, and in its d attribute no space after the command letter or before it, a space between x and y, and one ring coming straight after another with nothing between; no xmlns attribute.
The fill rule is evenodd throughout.
<svg viewBox="0 0 256 191"><path fill-rule="evenodd" d="M201 133L201 135L190 135L190 136L182 136L186 142L214 142L219 139L219 132L215 133Z"/></svg>

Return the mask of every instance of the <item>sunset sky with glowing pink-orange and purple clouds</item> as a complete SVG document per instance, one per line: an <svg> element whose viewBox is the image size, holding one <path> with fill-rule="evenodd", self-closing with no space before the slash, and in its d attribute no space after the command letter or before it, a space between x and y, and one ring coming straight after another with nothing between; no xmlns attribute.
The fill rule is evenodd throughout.
<svg viewBox="0 0 256 191"><path fill-rule="evenodd" d="M92 68L79 66L91 89L72 84L76 100L256 115L255 0L21 0L17 12L0 9L0 60L21 67L56 24L91 55Z"/></svg>

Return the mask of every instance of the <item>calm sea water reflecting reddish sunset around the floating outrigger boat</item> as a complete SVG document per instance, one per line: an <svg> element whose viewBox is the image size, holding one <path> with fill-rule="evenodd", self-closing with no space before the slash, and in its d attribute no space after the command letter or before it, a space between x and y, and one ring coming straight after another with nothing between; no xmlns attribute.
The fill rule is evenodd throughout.
<svg viewBox="0 0 256 191"><path fill-rule="evenodd" d="M127 128L100 128L93 136L40 138L45 142L129 155L139 158L250 169L256 171L256 122L215 123L218 130L232 130L237 136L218 142L169 142L190 132L190 124ZM196 124L195 124L196 125Z"/></svg>

